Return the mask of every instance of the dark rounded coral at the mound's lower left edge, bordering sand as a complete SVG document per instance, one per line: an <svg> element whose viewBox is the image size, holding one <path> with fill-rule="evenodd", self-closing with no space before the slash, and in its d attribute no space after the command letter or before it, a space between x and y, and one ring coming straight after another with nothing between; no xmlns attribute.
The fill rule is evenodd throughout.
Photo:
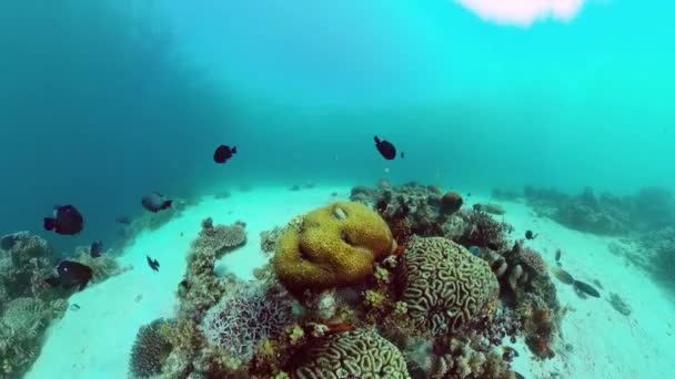
<svg viewBox="0 0 675 379"><path fill-rule="evenodd" d="M129 361L131 378L152 378L161 373L162 365L171 352L168 334L174 322L160 318L139 329Z"/></svg>

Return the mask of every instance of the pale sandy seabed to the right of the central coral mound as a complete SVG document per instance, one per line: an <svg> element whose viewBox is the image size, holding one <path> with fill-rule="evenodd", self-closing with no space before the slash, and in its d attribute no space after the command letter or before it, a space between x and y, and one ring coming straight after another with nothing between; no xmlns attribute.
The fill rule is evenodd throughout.
<svg viewBox="0 0 675 379"><path fill-rule="evenodd" d="M488 202L486 197L472 197L474 202ZM498 203L498 202L497 202ZM575 279L588 283L600 280L601 298L581 298L572 286L553 279L561 305L574 308L563 319L562 338L554 344L557 356L551 360L536 360L518 341L521 354L513 367L525 378L675 378L675 306L649 278L624 258L609 253L609 237L598 237L567 229L548 218L537 218L531 208L521 203L504 205L506 222L522 238L531 229L540 235L526 243L550 266L555 265L555 252L562 250L562 267ZM619 295L633 309L626 317L608 303L609 294ZM566 351L565 346L571 347Z"/></svg>

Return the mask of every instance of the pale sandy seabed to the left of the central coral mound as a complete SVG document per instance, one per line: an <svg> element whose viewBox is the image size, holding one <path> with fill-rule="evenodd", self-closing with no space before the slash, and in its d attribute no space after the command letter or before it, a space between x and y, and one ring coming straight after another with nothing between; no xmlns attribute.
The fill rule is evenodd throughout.
<svg viewBox="0 0 675 379"><path fill-rule="evenodd" d="M345 199L349 191L331 186L299 192L283 187L234 192L225 199L204 198L181 217L140 235L120 258L122 265L131 264L133 269L70 298L69 304L78 304L80 309L69 309L48 330L40 357L26 378L127 378L138 329L158 317L174 316L175 289L185 272L190 242L199 233L202 219L211 216L215 224L238 219L246 223L246 245L225 255L216 272L252 279L252 270L269 259L260 249L262 231L283 226L294 215L331 199ZM340 196L331 197L333 192ZM148 267L145 255L160 262L159 273Z"/></svg>

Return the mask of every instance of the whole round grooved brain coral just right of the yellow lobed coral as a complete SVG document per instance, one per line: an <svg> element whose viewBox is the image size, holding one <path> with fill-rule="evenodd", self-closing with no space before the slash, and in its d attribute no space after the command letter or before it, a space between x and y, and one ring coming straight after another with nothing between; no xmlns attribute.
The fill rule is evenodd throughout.
<svg viewBox="0 0 675 379"><path fill-rule="evenodd" d="M487 263L443 237L413 238L396 275L413 324L435 336L490 313L498 295Z"/></svg>

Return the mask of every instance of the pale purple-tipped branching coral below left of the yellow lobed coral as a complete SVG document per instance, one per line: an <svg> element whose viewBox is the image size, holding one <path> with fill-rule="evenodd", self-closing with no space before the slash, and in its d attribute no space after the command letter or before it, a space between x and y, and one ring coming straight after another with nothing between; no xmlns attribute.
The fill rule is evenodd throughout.
<svg viewBox="0 0 675 379"><path fill-rule="evenodd" d="M291 298L279 286L235 284L199 328L210 345L249 361L259 342L281 336L291 320Z"/></svg>

